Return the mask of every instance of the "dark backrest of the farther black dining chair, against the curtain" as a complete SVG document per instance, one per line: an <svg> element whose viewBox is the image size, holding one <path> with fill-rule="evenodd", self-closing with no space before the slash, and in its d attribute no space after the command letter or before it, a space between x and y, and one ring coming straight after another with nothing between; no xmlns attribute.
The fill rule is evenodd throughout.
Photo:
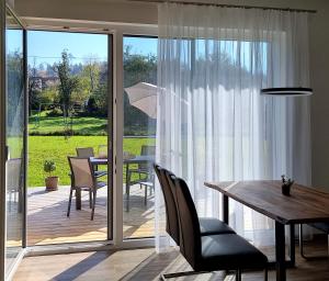
<svg viewBox="0 0 329 281"><path fill-rule="evenodd" d="M160 182L162 194L164 198L166 205L166 216L167 216L167 233L175 241L177 245L180 245L180 229L179 229L179 218L177 212L177 205L174 195L172 194L171 188L169 186L167 173L170 171L161 168L159 165L154 165L155 171Z"/></svg>

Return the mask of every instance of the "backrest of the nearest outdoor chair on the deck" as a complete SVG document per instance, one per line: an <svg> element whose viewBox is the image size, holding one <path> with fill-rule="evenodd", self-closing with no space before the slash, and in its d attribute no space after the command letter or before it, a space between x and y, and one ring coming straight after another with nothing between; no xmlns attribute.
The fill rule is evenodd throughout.
<svg viewBox="0 0 329 281"><path fill-rule="evenodd" d="M68 161L71 170L72 187L94 189L95 180L90 159L68 157Z"/></svg>

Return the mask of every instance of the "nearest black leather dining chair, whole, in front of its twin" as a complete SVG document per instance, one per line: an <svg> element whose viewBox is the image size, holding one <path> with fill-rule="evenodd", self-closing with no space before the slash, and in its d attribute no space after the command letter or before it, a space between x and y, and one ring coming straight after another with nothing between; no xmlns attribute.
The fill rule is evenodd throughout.
<svg viewBox="0 0 329 281"><path fill-rule="evenodd" d="M162 279L218 270L235 270L241 280L242 269L264 269L268 280L268 258L237 234L202 235L200 220L188 184L183 179L170 176L175 186L177 209L180 225L180 251L193 271L167 273Z"/></svg>

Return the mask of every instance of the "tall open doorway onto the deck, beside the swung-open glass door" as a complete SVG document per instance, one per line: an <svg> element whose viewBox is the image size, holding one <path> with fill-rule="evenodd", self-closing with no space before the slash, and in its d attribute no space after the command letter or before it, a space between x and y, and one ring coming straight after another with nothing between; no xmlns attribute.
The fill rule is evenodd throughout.
<svg viewBox="0 0 329 281"><path fill-rule="evenodd" d="M109 144L113 143L109 133L111 38L106 34L29 31L29 245L111 238L107 207L112 207L112 188L106 184L112 175L111 169L107 172ZM73 166L71 169L68 157L89 159L92 177L103 184L97 192L93 220L93 196L86 182L81 193L72 192L68 216L71 186L78 187L87 173L90 177L90 171L80 175ZM45 169L47 161L49 169ZM54 178L57 184L48 187Z"/></svg>

